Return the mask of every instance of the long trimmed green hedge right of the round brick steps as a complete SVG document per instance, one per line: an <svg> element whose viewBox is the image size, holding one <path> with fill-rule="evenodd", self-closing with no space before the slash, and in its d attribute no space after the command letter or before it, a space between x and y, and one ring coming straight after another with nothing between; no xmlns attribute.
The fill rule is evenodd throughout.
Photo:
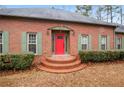
<svg viewBox="0 0 124 93"><path fill-rule="evenodd" d="M80 51L82 62L108 62L124 60L124 51Z"/></svg>

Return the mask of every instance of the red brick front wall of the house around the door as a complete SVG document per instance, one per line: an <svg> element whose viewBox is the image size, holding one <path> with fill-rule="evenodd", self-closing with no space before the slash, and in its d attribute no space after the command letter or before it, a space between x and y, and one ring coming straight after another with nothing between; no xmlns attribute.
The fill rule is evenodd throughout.
<svg viewBox="0 0 124 93"><path fill-rule="evenodd" d="M42 54L51 55L51 31L50 27L66 26L74 31L70 32L70 54L78 54L78 35L90 34L92 36L92 49L98 50L98 35L110 36L110 49L114 48L114 28L110 26L80 24L72 22L60 22L26 18L0 18L0 30L9 32L9 52L21 52L22 32L42 32ZM48 34L49 33L49 34Z"/></svg>

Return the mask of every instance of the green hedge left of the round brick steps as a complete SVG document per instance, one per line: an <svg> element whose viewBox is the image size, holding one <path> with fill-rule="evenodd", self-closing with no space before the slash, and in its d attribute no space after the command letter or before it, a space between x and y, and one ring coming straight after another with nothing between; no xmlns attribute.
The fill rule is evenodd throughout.
<svg viewBox="0 0 124 93"><path fill-rule="evenodd" d="M32 65L34 54L2 54L0 70L24 70Z"/></svg>

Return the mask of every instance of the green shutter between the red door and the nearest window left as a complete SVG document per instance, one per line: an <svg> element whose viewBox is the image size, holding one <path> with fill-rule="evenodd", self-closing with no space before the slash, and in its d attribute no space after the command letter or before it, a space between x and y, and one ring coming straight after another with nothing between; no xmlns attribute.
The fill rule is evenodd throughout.
<svg viewBox="0 0 124 93"><path fill-rule="evenodd" d="M38 55L42 54L42 33L41 32L37 33L37 54Z"/></svg>

